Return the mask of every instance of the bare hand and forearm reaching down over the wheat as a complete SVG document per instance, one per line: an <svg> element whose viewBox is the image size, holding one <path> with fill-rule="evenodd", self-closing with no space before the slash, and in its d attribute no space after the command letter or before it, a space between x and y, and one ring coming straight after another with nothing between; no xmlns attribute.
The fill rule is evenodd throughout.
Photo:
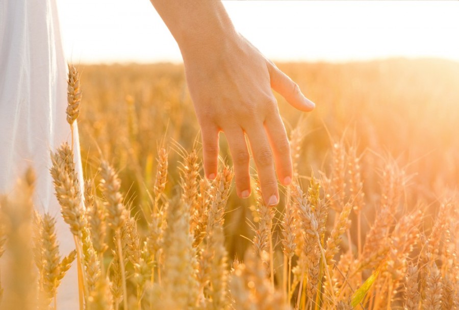
<svg viewBox="0 0 459 310"><path fill-rule="evenodd" d="M249 160L257 166L263 199L279 201L277 178L292 182L290 144L271 89L309 112L314 103L297 84L240 35L220 1L151 0L179 44L186 79L201 127L206 177L215 178L218 135L233 157L239 197L250 195ZM277 174L277 178L276 178Z"/></svg>

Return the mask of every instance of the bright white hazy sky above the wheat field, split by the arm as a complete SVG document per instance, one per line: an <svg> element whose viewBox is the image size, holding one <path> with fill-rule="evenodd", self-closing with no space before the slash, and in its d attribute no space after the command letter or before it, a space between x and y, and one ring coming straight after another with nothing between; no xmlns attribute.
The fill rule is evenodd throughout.
<svg viewBox="0 0 459 310"><path fill-rule="evenodd" d="M183 0L186 1L186 0ZM148 0L57 0L67 58L181 62ZM236 29L279 61L441 57L459 61L459 1L224 1Z"/></svg>

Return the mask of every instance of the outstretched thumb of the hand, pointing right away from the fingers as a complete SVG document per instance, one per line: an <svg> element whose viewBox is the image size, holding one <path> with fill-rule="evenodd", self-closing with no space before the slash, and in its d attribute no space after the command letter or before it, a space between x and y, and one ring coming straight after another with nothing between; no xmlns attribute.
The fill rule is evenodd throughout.
<svg viewBox="0 0 459 310"><path fill-rule="evenodd" d="M271 88L281 94L290 105L305 112L312 111L316 107L314 102L304 97L298 85L287 74L279 70L275 64L268 62L268 70Z"/></svg>

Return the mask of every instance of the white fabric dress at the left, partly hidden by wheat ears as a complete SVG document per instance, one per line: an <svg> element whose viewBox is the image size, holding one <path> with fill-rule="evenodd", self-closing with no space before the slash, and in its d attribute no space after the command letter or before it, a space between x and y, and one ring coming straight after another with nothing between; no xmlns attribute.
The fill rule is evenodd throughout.
<svg viewBox="0 0 459 310"><path fill-rule="evenodd" d="M50 151L70 143L67 66L57 17L55 0L0 0L0 193L8 194L32 166L37 174L35 208L57 217L61 255L67 255L74 248L73 238L60 216L49 174ZM74 135L81 178L78 130ZM58 289L58 307L78 309L74 266Z"/></svg>

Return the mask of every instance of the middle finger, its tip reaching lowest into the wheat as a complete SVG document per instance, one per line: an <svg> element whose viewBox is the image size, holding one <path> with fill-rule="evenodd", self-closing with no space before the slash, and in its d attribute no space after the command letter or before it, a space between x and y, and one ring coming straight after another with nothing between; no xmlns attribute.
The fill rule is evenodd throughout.
<svg viewBox="0 0 459 310"><path fill-rule="evenodd" d="M279 201L277 179L274 171L274 161L268 138L263 126L255 126L247 131L253 159L258 170L263 201L267 205L275 205Z"/></svg>

